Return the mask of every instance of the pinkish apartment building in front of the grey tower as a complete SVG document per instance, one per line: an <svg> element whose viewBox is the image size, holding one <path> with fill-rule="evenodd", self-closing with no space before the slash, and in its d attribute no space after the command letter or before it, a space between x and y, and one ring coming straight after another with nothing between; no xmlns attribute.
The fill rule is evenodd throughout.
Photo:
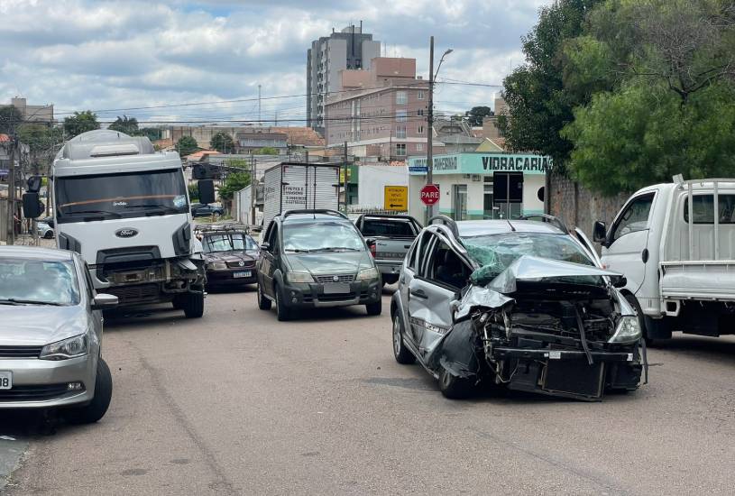
<svg viewBox="0 0 735 496"><path fill-rule="evenodd" d="M345 69L326 98L326 145L344 142L358 157L405 160L427 153L428 81L416 59L377 57L369 70Z"/></svg>

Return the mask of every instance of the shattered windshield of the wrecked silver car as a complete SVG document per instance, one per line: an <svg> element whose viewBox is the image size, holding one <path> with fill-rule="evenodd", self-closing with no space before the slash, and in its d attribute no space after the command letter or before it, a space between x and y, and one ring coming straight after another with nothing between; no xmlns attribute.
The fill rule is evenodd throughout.
<svg viewBox="0 0 735 496"><path fill-rule="evenodd" d="M470 276L470 280L473 284L482 286L495 279L523 255L594 266L594 262L578 244L561 234L518 232L487 234L463 237L462 242L470 257L481 265L480 269Z"/></svg>

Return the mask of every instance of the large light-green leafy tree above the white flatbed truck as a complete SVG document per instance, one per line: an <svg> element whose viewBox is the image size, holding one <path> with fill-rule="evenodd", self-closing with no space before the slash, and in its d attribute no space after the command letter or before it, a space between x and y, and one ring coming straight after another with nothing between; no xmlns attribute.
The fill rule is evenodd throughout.
<svg viewBox="0 0 735 496"><path fill-rule="evenodd" d="M574 179L615 194L732 175L732 14L714 0L611 0L590 14L565 48L565 90L593 95L561 132Z"/></svg>

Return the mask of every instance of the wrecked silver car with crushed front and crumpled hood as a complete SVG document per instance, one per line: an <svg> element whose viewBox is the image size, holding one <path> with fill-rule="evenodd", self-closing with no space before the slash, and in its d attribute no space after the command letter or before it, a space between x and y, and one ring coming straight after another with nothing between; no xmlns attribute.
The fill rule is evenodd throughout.
<svg viewBox="0 0 735 496"><path fill-rule="evenodd" d="M399 363L418 360L448 398L481 383L578 400L639 387L639 318L583 234L553 217L433 220L390 306Z"/></svg>

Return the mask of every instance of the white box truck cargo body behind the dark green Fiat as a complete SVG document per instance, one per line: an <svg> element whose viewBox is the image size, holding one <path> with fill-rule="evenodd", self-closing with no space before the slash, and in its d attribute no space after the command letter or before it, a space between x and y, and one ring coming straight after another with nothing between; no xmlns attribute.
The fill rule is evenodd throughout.
<svg viewBox="0 0 735 496"><path fill-rule="evenodd" d="M263 176L263 230L289 210L339 209L340 166L283 162Z"/></svg>

